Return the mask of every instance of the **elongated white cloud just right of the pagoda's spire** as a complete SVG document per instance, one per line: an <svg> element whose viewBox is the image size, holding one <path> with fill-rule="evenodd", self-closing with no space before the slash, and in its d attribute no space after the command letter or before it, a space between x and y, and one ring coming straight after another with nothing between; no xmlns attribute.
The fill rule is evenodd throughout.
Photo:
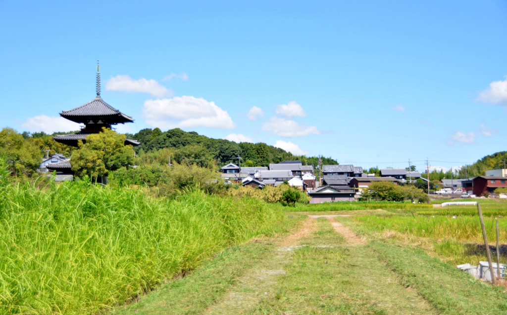
<svg viewBox="0 0 507 315"><path fill-rule="evenodd" d="M170 89L154 79L147 80L145 78L140 78L139 80L134 80L128 75L117 75L107 80L105 89L107 91L128 93L148 93L158 98L174 95Z"/></svg>

